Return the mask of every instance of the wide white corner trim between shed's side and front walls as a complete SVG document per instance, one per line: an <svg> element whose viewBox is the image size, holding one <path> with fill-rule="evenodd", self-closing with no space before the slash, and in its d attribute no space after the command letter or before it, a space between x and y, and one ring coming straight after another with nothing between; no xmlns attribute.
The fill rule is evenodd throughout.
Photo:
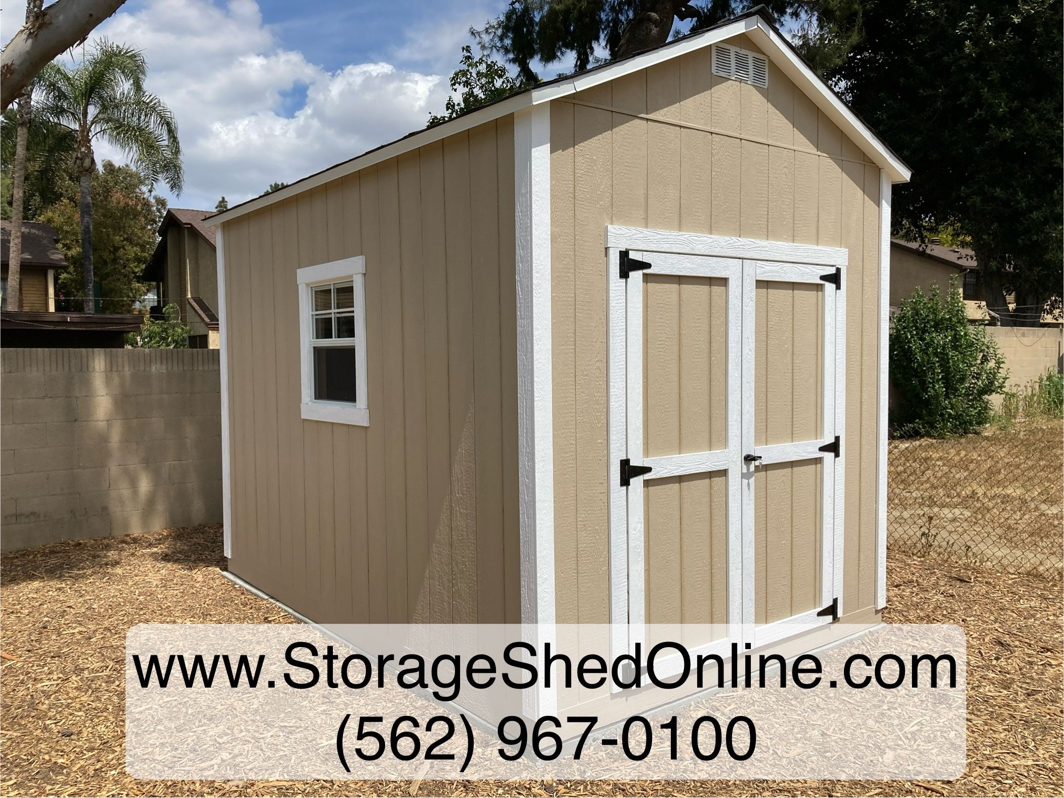
<svg viewBox="0 0 1064 798"><path fill-rule="evenodd" d="M549 105L514 116L514 190L521 622L543 636L554 624ZM539 715L556 703L546 689L526 699Z"/></svg>

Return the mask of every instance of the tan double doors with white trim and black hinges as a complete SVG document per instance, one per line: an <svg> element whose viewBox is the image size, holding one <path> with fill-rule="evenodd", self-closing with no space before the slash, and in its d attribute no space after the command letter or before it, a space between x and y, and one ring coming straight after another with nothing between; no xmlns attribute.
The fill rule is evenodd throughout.
<svg viewBox="0 0 1064 798"><path fill-rule="evenodd" d="M831 622L842 269L608 252L614 651L727 653Z"/></svg>

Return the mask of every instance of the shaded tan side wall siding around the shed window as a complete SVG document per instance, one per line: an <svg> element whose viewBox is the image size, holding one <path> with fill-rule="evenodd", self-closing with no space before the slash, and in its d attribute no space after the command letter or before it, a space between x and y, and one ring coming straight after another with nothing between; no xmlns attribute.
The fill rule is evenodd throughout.
<svg viewBox="0 0 1064 798"><path fill-rule="evenodd" d="M513 146L492 122L226 225L230 567L315 620L520 619ZM306 421L296 270L359 254L370 423Z"/></svg>

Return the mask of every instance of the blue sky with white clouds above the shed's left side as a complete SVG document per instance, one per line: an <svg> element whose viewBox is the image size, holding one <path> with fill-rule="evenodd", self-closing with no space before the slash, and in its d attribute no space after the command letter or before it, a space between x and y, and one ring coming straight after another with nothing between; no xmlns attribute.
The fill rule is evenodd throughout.
<svg viewBox="0 0 1064 798"><path fill-rule="evenodd" d="M129 0L94 32L137 47L174 112L185 187L171 205L235 203L425 126L470 26L506 0ZM0 38L24 4L4 2ZM76 54L77 56L77 54ZM97 160L120 154L99 146Z"/></svg>

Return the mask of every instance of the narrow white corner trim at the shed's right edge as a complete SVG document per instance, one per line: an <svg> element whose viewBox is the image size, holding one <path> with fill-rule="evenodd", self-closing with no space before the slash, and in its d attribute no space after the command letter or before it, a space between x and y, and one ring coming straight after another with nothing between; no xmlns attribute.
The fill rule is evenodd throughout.
<svg viewBox="0 0 1064 798"><path fill-rule="evenodd" d="M876 436L876 609L886 606L886 420L891 346L891 178L879 172L879 434Z"/></svg>

